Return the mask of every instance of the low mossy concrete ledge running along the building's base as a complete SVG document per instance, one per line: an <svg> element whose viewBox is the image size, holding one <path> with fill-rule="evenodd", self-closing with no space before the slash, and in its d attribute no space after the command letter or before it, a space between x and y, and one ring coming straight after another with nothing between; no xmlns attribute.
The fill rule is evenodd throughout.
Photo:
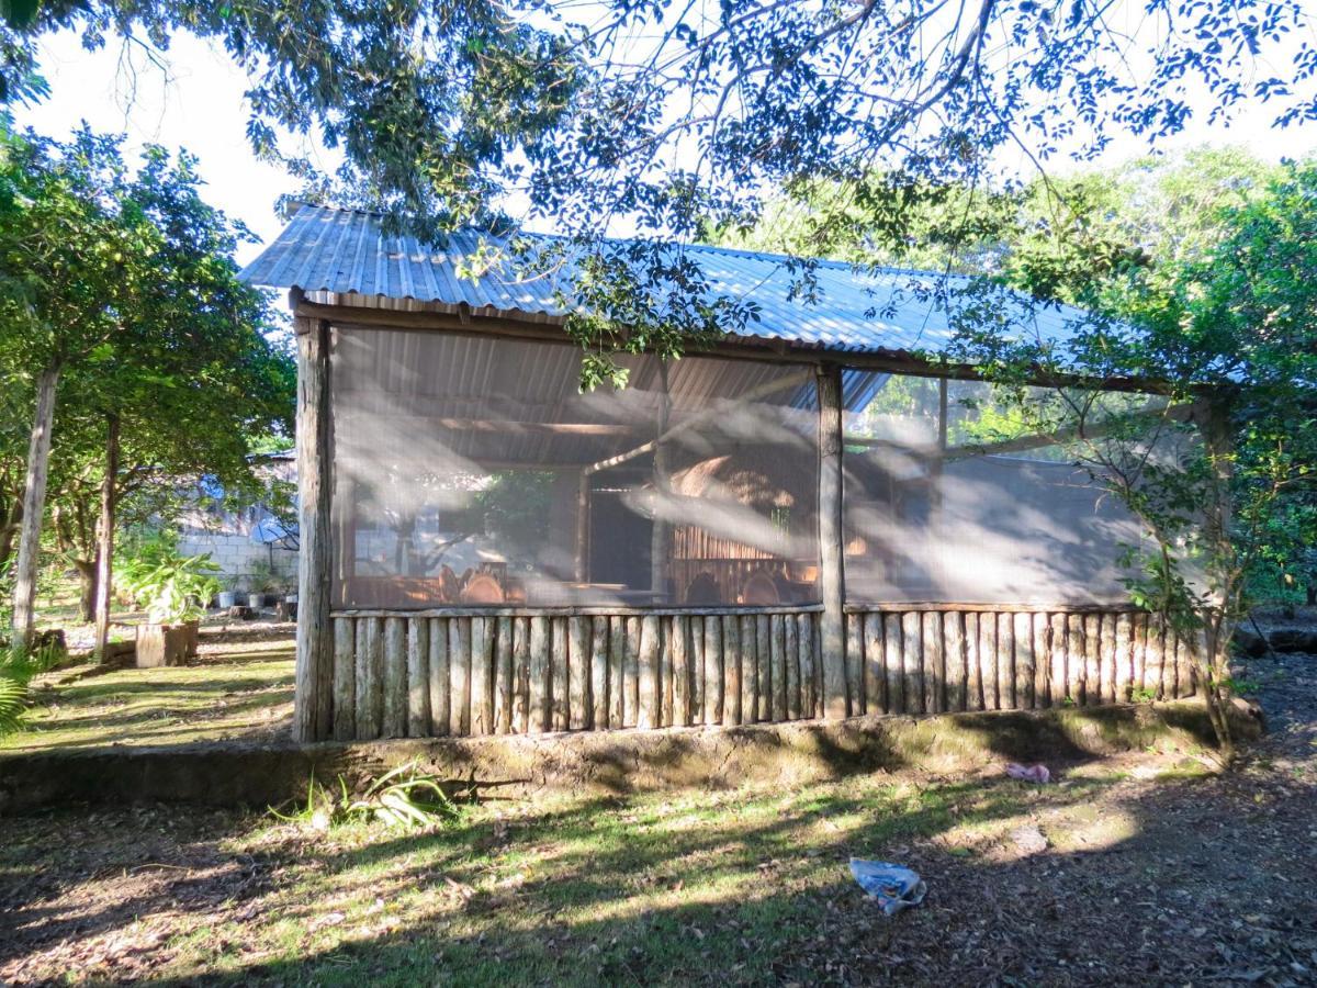
<svg viewBox="0 0 1317 988"><path fill-rule="evenodd" d="M1241 740L1262 732L1237 702ZM0 813L71 802L265 806L315 777L354 785L416 759L458 792L631 793L743 782L801 784L855 772L956 772L1001 760L1084 761L1150 744L1210 747L1198 701L1055 710L857 717L744 727L578 731L493 738L294 744L217 742L0 756Z"/></svg>

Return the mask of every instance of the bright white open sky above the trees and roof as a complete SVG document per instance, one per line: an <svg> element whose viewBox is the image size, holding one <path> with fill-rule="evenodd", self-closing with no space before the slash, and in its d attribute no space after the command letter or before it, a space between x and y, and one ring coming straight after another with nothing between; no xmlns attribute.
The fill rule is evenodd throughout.
<svg viewBox="0 0 1317 988"><path fill-rule="evenodd" d="M65 137L87 121L97 132L125 133L130 153L150 142L186 148L200 158L207 200L269 242L282 227L275 200L295 192L298 182L278 165L257 161L252 154L246 142L249 107L242 70L221 47L186 34L175 37L163 61L162 69L141 49L125 47L113 38L105 47L87 51L72 32L46 36L41 41L41 71L51 95L20 108L16 117L50 137ZM1317 126L1277 132L1271 128L1271 119L1270 108L1262 107L1246 109L1229 129L1209 126L1200 119L1159 146L1175 150L1233 144L1271 161L1317 153ZM337 163L335 155L317 146L307 145L303 150L324 167ZM1146 151L1146 144L1126 134L1113 142L1101 163L1115 165ZM258 244L244 245L240 263L250 261L259 249Z"/></svg>

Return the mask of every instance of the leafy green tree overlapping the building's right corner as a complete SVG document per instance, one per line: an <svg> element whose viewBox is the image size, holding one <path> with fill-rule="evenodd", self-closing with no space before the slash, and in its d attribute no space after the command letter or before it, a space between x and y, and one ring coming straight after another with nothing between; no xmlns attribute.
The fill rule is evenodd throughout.
<svg viewBox="0 0 1317 988"><path fill-rule="evenodd" d="M1197 256L1122 271L1105 298L1135 304L1093 311L1065 344L1009 339L989 315L1002 286L979 282L952 357L1142 520L1130 590L1189 643L1229 763L1229 647L1251 577L1317 535L1293 511L1317 490L1317 165L1288 166L1220 220L1225 236ZM1043 400L1025 387L1039 375L1058 382ZM1163 400L1113 395L1113 381Z"/></svg>

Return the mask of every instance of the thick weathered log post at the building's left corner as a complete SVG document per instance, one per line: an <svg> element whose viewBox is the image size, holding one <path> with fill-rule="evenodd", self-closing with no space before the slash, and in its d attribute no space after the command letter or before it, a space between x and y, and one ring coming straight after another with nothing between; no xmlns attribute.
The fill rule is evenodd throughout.
<svg viewBox="0 0 1317 988"><path fill-rule="evenodd" d="M325 740L333 734L333 623L329 586L333 545L333 414L329 407L329 324L294 320L298 335L298 660L292 736Z"/></svg>

